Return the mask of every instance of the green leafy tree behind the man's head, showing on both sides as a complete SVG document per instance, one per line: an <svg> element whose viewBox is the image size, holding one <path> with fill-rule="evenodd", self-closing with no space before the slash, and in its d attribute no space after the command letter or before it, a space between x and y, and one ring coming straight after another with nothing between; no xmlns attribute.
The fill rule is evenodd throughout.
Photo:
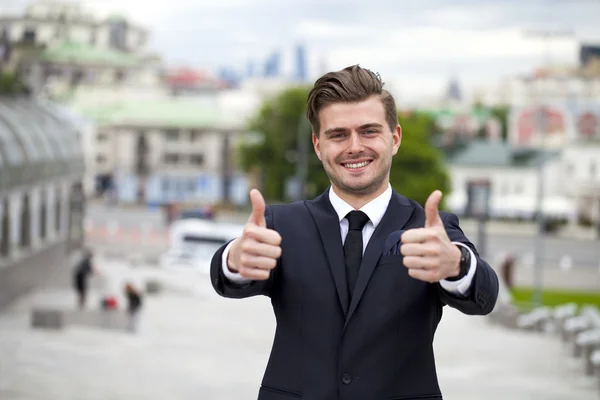
<svg viewBox="0 0 600 400"><path fill-rule="evenodd" d="M285 199L285 183L296 172L298 130L305 118L306 98L310 88L296 87L267 100L250 123L249 130L259 133L260 141L240 146L240 164L245 171L259 169L263 194L270 200ZM449 178L442 154L430 144L433 120L426 115L401 115L403 138L394 157L390 182L403 195L420 204L435 189L445 195ZM310 125L302 132L309 141L307 196L313 197L329 186L321 161L313 151Z"/></svg>

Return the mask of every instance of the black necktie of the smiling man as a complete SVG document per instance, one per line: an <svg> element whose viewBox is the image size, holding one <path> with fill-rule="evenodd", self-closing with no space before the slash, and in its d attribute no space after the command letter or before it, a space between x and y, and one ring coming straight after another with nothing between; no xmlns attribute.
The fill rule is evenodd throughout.
<svg viewBox="0 0 600 400"><path fill-rule="evenodd" d="M352 292L354 292L354 285L356 285L358 270L362 261L362 228L369 221L369 217L362 211L350 211L346 215L346 219L350 223L350 227L344 241L344 260L346 262L348 290L350 298L352 298Z"/></svg>

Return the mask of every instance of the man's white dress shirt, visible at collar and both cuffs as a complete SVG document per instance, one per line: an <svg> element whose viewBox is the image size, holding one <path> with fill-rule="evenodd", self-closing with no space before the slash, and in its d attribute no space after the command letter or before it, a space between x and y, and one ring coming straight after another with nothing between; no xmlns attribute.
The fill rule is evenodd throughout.
<svg viewBox="0 0 600 400"><path fill-rule="evenodd" d="M371 235L373 235L375 228L377 228L377 225L379 225L379 223L381 222L381 219L383 218L383 215L385 214L385 211L387 210L387 207L388 207L388 204L389 204L391 198L392 198L392 187L391 187L391 185L388 185L388 188L385 192L383 192L381 195L379 195L375 199L373 199L370 202L368 202L367 204L365 204L360 209L360 211L364 212L369 217L369 221L367 222L367 224L364 226L364 228L362 230L363 254L365 252L365 249L367 248L369 239L371 239ZM343 245L344 241L346 240L346 235L348 234L348 220L346 219L346 215L350 211L353 211L354 208L351 205L349 205L348 203L346 203L344 200L342 200L333 191L333 188L330 188L330 190L329 190L329 201L331 202L331 205L333 206L333 209L337 213L338 218L340 220L340 231L342 234L340 239L341 239L342 245ZM227 268L227 256L229 254L229 249L231 248L232 243L233 242L229 243L229 245L225 248L225 251L223 251L223 258L222 258L223 273L225 274L227 279L229 279L232 282L248 283L248 282L250 282L249 279L244 278L239 273L231 272L229 270L229 268ZM453 242L453 243L458 246L465 247L469 251L469 253L471 253L471 267L469 268L469 272L467 273L467 275L464 276L463 278L461 278L457 281L441 280L440 285L442 286L442 288L444 288L446 291L448 291L450 293L466 295L471 287L471 282L473 281L473 276L475 275L475 269L477 268L477 259L475 258L475 255L473 254L471 249L469 249L469 247L465 246L462 243L458 243L458 242Z"/></svg>

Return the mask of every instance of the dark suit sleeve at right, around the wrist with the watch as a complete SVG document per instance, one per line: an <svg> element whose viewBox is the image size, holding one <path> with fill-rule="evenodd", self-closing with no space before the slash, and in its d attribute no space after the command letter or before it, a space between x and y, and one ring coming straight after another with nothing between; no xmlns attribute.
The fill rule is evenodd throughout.
<svg viewBox="0 0 600 400"><path fill-rule="evenodd" d="M475 275L471 281L469 291L465 296L455 295L441 286L438 292L442 303L469 315L487 315L496 305L498 298L498 276L490 265L477 253L475 246L466 238L458 224L458 217L445 213L444 225L450 240L467 246L477 260Z"/></svg>

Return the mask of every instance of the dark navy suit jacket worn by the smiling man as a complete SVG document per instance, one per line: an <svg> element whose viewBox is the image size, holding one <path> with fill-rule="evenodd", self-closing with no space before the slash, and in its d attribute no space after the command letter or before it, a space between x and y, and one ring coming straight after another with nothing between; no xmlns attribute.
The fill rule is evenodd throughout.
<svg viewBox="0 0 600 400"><path fill-rule="evenodd" d="M282 256L268 280L231 283L222 271L225 246L216 252L211 280L217 293L271 298L277 329L259 400L442 398L432 348L442 308L489 313L498 278L457 217L440 215L450 239L469 246L477 258L467 297L411 278L402 255L382 254L392 232L425 222L423 208L395 191L367 245L351 301L328 191L311 201L267 207L267 226L282 237Z"/></svg>

